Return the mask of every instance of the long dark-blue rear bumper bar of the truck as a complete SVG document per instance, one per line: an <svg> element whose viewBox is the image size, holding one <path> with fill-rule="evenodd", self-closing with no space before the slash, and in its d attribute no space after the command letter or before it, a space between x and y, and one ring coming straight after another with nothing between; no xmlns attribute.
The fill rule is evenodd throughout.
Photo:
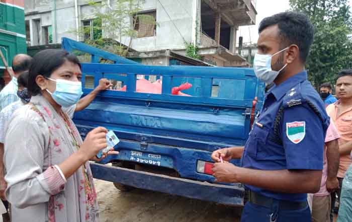
<svg viewBox="0 0 352 222"><path fill-rule="evenodd" d="M226 205L243 205L242 187L211 184L160 174L91 163L94 178Z"/></svg>

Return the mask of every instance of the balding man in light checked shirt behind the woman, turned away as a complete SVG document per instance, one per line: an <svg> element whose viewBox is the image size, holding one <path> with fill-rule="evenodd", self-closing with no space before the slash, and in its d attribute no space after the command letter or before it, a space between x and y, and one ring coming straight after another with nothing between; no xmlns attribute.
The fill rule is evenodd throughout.
<svg viewBox="0 0 352 222"><path fill-rule="evenodd" d="M25 71L28 71L31 65L32 57L26 54L18 54L12 60L12 69L14 76L10 83L0 92L0 111L9 104L19 100L17 96L18 84L17 78Z"/></svg>

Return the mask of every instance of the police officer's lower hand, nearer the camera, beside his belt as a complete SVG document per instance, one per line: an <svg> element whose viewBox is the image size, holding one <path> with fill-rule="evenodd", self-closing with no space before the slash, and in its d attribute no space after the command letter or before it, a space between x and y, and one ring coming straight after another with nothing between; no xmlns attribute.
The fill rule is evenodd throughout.
<svg viewBox="0 0 352 222"><path fill-rule="evenodd" d="M236 172L238 167L235 165L224 162L224 163L215 163L213 166L213 176L216 178L216 182L224 183L236 183Z"/></svg>

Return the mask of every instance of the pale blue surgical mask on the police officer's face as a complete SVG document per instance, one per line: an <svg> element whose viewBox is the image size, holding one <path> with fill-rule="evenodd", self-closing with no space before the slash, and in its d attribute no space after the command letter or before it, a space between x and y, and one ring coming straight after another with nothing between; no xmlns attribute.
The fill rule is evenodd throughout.
<svg viewBox="0 0 352 222"><path fill-rule="evenodd" d="M287 64L284 67L282 67L279 71L275 71L272 69L272 58L274 55L277 55L288 48L289 47L284 48L283 50L278 51L273 55L255 53L254 63L253 63L255 76L259 80L265 82L267 85L273 83L274 80L278 77L279 73L287 66Z"/></svg>

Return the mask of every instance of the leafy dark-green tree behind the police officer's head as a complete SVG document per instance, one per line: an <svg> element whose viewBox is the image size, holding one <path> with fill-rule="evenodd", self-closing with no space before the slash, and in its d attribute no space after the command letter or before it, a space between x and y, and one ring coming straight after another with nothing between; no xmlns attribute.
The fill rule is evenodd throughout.
<svg viewBox="0 0 352 222"><path fill-rule="evenodd" d="M347 0L290 0L314 25L314 41L307 58L309 80L316 89L334 83L339 70L352 67L352 20Z"/></svg>

